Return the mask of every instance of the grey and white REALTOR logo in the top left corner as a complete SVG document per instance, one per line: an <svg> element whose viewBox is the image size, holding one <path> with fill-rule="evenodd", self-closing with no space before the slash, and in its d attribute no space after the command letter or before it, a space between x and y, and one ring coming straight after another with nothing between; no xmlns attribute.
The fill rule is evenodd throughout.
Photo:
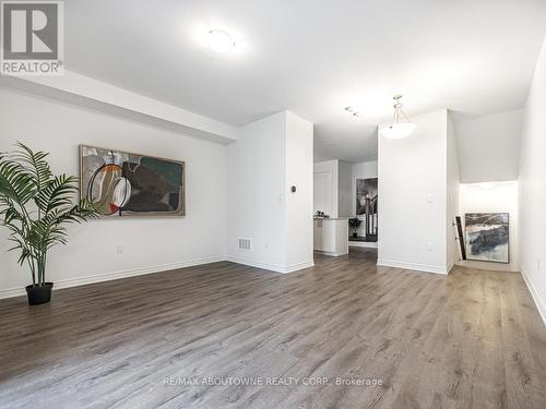
<svg viewBox="0 0 546 409"><path fill-rule="evenodd" d="M62 74L63 17L61 1L2 1L0 73Z"/></svg>

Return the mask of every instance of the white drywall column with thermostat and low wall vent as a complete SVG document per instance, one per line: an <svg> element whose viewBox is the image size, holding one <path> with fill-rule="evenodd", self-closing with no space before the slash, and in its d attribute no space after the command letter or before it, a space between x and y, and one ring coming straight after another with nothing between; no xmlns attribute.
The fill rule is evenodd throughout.
<svg viewBox="0 0 546 409"><path fill-rule="evenodd" d="M311 266L312 124L280 112L240 131L227 146L227 258L280 273Z"/></svg>

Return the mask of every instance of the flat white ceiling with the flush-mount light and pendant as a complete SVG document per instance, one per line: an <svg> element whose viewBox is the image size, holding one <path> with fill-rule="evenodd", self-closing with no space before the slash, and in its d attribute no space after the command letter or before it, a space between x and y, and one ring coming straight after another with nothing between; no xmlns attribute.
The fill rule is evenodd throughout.
<svg viewBox="0 0 546 409"><path fill-rule="evenodd" d="M66 1L67 69L236 125L290 110L317 158L351 161L377 157L396 93L410 116L521 108L545 34L544 0Z"/></svg>

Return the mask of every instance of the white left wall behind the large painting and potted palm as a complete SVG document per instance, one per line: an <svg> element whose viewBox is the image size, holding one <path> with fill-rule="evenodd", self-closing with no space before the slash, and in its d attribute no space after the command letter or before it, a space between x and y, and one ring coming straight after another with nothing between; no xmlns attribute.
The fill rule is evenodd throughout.
<svg viewBox="0 0 546 409"><path fill-rule="evenodd" d="M21 141L50 152L54 172L79 173L79 144L186 161L187 216L93 220L70 228L51 251L48 279L57 287L218 261L225 254L225 146L0 87L0 151ZM0 296L31 281L0 228ZM124 253L116 254L116 245Z"/></svg>

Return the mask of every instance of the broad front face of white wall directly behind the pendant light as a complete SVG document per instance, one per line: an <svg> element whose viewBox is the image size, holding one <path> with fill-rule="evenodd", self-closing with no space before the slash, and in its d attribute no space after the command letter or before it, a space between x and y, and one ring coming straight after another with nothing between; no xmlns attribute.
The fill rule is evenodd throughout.
<svg viewBox="0 0 546 409"><path fill-rule="evenodd" d="M448 112L412 120L410 137L379 136L378 264L446 274Z"/></svg>

